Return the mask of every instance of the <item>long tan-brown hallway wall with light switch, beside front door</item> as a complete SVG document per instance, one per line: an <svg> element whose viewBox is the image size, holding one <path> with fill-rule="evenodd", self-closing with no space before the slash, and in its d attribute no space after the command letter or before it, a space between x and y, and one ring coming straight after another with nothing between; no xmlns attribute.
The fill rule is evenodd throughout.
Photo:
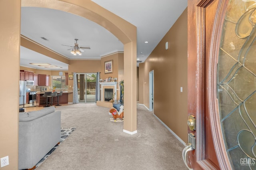
<svg viewBox="0 0 256 170"><path fill-rule="evenodd" d="M187 21L186 9L146 61L139 65L139 103L149 108L149 72L154 70L154 114L184 142L187 141L188 103ZM168 50L166 42L169 42Z"/></svg>

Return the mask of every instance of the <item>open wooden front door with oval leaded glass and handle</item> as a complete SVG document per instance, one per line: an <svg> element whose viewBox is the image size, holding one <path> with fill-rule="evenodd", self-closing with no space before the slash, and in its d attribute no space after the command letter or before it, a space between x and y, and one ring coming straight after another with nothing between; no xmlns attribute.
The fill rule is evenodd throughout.
<svg viewBox="0 0 256 170"><path fill-rule="evenodd" d="M255 9L254 0L188 0L190 169L256 169Z"/></svg>

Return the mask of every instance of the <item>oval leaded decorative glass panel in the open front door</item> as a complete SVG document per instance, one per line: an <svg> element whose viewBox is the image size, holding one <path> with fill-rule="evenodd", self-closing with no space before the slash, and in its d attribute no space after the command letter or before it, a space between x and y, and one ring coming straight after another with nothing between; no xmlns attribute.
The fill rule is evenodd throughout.
<svg viewBox="0 0 256 170"><path fill-rule="evenodd" d="M256 0L230 0L217 66L220 125L234 169L256 169Z"/></svg>

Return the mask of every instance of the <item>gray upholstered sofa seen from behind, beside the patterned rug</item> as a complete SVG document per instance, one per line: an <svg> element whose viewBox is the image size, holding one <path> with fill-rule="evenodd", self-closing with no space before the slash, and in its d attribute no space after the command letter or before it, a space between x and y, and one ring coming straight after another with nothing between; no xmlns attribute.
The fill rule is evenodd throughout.
<svg viewBox="0 0 256 170"><path fill-rule="evenodd" d="M46 107L19 113L18 169L34 167L60 142L60 111Z"/></svg>

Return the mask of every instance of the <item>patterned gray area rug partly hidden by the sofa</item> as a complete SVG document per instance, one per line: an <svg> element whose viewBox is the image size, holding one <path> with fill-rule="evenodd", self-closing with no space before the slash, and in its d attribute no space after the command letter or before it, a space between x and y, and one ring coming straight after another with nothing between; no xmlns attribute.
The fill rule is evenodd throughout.
<svg viewBox="0 0 256 170"><path fill-rule="evenodd" d="M63 127L62 127L62 128L60 129L60 143L59 143L59 144L56 144L56 146L54 146L54 148L52 148L52 150L50 150L50 152L48 152L48 153L44 156L44 158L42 158L42 159L36 164L36 168L37 168L38 166L40 166L40 165L44 162L44 160L46 160L46 159L48 158L48 156L50 156L50 154L52 154L52 152L53 152L56 148L58 148L58 146L60 146L60 144L62 144L62 142L63 142L74 130L76 130L75 127L72 127L72 128L63 128ZM35 170L36 168L34 168L34 170Z"/></svg>

